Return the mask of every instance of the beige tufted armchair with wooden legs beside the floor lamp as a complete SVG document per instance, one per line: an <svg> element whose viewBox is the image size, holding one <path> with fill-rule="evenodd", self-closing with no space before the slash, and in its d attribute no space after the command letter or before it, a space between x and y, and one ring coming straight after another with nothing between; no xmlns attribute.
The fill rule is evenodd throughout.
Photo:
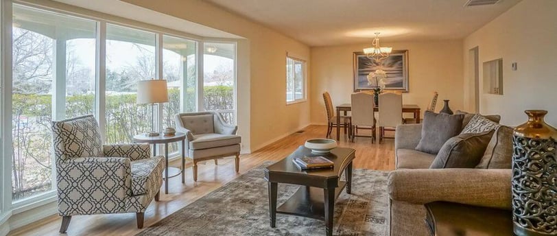
<svg viewBox="0 0 557 236"><path fill-rule="evenodd" d="M222 119L220 113L180 113L176 115L176 131L186 134L187 156L193 159L193 180L198 180L198 162L226 156L235 157L236 172L240 165L241 137L238 127Z"/></svg>

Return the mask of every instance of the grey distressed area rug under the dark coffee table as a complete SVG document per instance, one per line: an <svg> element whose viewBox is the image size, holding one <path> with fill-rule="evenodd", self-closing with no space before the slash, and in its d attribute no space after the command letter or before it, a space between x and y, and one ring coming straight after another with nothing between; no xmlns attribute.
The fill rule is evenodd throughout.
<svg viewBox="0 0 557 236"><path fill-rule="evenodd" d="M270 227L263 179L268 165L251 169L138 235L325 235L324 222L305 217L276 214L276 228ZM334 235L388 235L387 176L388 172L353 170L352 194L344 191L335 203ZM298 187L279 183L277 206Z"/></svg>

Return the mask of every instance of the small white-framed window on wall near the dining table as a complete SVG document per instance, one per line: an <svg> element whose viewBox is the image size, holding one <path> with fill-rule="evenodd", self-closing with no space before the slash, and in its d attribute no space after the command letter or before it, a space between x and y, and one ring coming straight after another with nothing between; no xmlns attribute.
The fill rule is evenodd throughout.
<svg viewBox="0 0 557 236"><path fill-rule="evenodd" d="M286 102L305 101L305 61L286 57Z"/></svg>

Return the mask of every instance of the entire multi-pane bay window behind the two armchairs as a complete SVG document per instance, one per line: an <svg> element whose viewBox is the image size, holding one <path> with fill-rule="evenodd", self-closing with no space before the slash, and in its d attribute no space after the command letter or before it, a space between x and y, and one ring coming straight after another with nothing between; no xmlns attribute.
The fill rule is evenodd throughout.
<svg viewBox="0 0 557 236"><path fill-rule="evenodd" d="M13 4L12 19L13 76L4 78L12 84L12 110L2 115L12 118L3 130L12 132L11 150L4 153L12 154L14 206L54 196L51 121L95 114L105 143L131 143L152 129L152 121L155 130L175 127L182 112L218 110L235 123L235 43L169 36L154 26L123 26L25 3ZM137 104L137 82L152 78L167 80L169 90L169 102L154 108Z"/></svg>

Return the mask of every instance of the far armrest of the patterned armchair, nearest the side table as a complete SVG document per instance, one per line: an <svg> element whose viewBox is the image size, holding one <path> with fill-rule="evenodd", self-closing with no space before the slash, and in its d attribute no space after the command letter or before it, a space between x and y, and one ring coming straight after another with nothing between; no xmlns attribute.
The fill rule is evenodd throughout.
<svg viewBox="0 0 557 236"><path fill-rule="evenodd" d="M102 152L106 157L125 157L132 161L151 157L151 148L147 143L106 144L102 145Z"/></svg>

